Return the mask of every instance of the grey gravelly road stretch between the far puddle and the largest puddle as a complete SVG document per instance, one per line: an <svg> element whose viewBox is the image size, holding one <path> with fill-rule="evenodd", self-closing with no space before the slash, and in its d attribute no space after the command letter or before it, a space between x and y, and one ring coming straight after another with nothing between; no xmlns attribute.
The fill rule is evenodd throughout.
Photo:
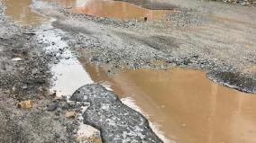
<svg viewBox="0 0 256 143"><path fill-rule="evenodd" d="M175 10L159 22L96 18L71 13L65 7L44 14L61 17L52 25L69 31L69 46L78 54L86 50L89 62L108 65L110 74L125 68L192 67L219 75L232 73L240 82L228 82L227 76L207 76L221 85L255 93L255 72L250 70L256 62L254 7L208 1L152 5L157 5L155 9L169 5ZM162 64L155 64L159 62Z"/></svg>

